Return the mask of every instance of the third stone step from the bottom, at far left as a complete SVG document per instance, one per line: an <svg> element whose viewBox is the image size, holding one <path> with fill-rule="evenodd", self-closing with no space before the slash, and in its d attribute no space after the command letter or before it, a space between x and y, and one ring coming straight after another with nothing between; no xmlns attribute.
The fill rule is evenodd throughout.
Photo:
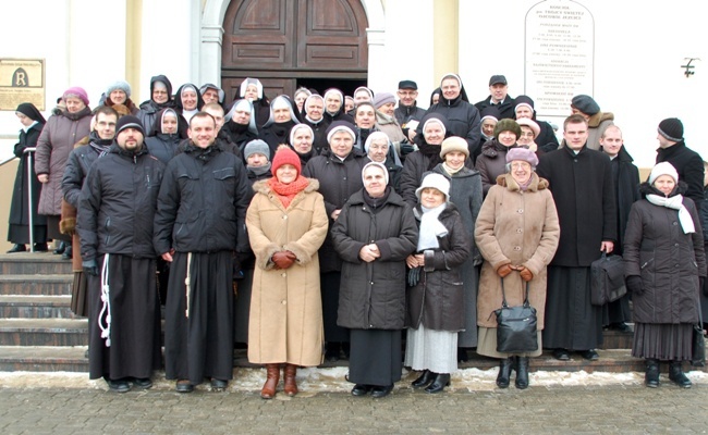
<svg viewBox="0 0 708 435"><path fill-rule="evenodd" d="M0 295L0 319L74 319L71 295Z"/></svg>

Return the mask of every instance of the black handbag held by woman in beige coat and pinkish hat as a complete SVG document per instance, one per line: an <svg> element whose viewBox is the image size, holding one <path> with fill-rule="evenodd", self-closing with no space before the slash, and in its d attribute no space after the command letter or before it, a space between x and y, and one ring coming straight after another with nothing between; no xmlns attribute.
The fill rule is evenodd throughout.
<svg viewBox="0 0 708 435"><path fill-rule="evenodd" d="M532 352L538 350L536 333L536 309L528 303L528 282L524 304L509 307L504 293L504 278L501 278L501 308L497 314L497 351L506 353Z"/></svg>

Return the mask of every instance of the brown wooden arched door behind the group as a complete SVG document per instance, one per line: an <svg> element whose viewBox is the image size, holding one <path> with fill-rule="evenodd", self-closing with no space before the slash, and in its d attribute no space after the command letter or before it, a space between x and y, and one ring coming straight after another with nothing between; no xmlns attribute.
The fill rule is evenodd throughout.
<svg viewBox="0 0 708 435"><path fill-rule="evenodd" d="M223 18L221 87L236 98L257 77L270 98L298 86L345 92L366 83L366 12L359 0L233 0Z"/></svg>

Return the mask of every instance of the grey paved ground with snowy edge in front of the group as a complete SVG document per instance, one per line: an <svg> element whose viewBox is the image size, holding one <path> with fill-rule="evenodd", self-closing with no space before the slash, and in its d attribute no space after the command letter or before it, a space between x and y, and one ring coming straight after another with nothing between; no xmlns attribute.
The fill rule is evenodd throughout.
<svg viewBox="0 0 708 435"><path fill-rule="evenodd" d="M339 371L338 371L339 370ZM460 371L441 395L408 387L406 374L383 399L352 397L340 369L301 371L305 390L258 396L263 373L236 372L224 393L199 386L188 395L157 376L150 390L114 394L85 374L0 376L0 433L10 434L538 434L707 433L708 376L692 372L691 389L649 389L639 373L532 374L532 387L493 387L496 370ZM491 385L490 385L491 384Z"/></svg>

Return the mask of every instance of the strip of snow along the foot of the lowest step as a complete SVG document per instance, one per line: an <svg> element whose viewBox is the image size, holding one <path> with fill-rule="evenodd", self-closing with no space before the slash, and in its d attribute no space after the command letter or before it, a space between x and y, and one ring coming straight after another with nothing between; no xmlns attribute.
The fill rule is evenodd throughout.
<svg viewBox="0 0 708 435"><path fill-rule="evenodd" d="M347 393L352 384L346 381L346 368L330 369L300 369L297 371L297 384L301 396L316 393ZM694 383L708 384L708 373L692 371L687 373L688 378ZM398 388L408 388L408 383L416 377L416 373L404 371L403 380L396 384ZM644 383L644 373L607 373L595 372L532 372L532 387L556 387L556 386L603 386L603 385L627 385L636 386ZM662 374L662 381L666 377ZM452 391L486 391L495 390L497 386L497 369L479 370L464 369L452 374L450 390ZM260 390L265 381L265 369L236 369L234 380L229 384L230 391L253 391ZM174 382L164 378L164 372L157 372L154 376L154 388L170 390L174 388ZM75 372L0 372L0 388L97 388L108 389L102 380L89 380L87 373ZM208 382L197 386L197 389L209 390ZM281 396L281 395L279 395ZM279 397L277 396L277 397Z"/></svg>

